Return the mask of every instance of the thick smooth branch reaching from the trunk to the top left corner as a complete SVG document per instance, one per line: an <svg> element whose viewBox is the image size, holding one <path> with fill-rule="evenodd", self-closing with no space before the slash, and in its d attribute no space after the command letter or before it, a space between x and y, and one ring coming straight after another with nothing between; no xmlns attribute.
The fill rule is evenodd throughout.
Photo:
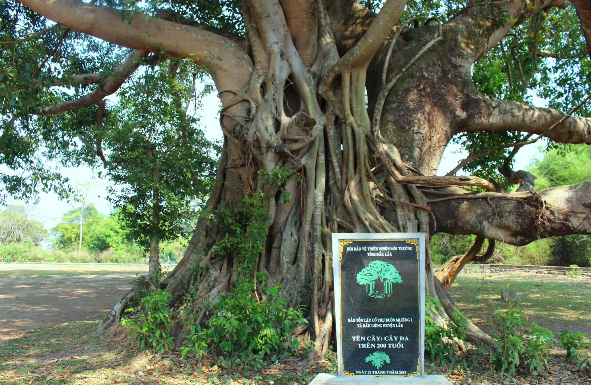
<svg viewBox="0 0 591 385"><path fill-rule="evenodd" d="M252 71L252 61L238 44L200 28L144 14L135 14L124 22L115 9L76 0L21 2L67 28L123 47L192 58L210 71L218 89L241 89Z"/></svg>

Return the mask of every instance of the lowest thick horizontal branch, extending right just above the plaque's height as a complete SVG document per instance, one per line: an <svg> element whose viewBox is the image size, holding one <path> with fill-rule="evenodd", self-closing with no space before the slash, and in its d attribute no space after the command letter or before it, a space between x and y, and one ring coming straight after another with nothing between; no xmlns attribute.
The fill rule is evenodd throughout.
<svg viewBox="0 0 591 385"><path fill-rule="evenodd" d="M475 234L516 246L550 236L591 234L591 182L507 194L452 190L459 193L432 195L435 232Z"/></svg>

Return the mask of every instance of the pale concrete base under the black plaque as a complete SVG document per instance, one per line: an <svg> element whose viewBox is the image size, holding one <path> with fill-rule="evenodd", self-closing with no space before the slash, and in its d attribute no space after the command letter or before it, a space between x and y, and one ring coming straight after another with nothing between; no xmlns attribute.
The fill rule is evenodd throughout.
<svg viewBox="0 0 591 385"><path fill-rule="evenodd" d="M319 373L310 385L452 385L445 377L436 374L424 377L391 377L391 376L337 376L334 373Z"/></svg>

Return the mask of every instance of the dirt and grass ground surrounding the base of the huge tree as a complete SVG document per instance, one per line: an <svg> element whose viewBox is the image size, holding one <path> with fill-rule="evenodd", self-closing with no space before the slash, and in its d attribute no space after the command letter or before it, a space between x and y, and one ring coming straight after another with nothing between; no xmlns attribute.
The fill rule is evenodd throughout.
<svg viewBox="0 0 591 385"><path fill-rule="evenodd" d="M185 359L177 352L147 353L129 345L125 328L93 333L98 321L131 287L136 273L146 272L147 266L142 265L0 264L0 384L307 384L314 373L336 369L334 353L316 367L289 358L253 372L246 363L218 367L220 357ZM510 285L522 292L524 308L544 314L545 321L556 315L569 329L588 327L591 286L587 280L544 278L540 290L538 285L526 290L520 285L533 278L509 275L498 278L499 282L493 278L484 283L466 279L454 288L458 304L474 314L482 303L496 300L501 286ZM512 376L497 373L483 350L470 351L443 366L427 363L426 370L444 374L455 385L591 383L589 367L567 361L565 353L559 346L551 349L548 367L540 376L528 376L521 369ZM581 353L589 357L589 351Z"/></svg>

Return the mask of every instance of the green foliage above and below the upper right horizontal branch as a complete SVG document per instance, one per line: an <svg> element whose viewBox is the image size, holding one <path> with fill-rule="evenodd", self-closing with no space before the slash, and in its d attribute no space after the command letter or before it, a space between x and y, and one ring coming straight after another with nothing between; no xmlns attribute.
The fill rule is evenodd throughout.
<svg viewBox="0 0 591 385"><path fill-rule="evenodd" d="M474 64L472 79L480 92L492 97L531 103L536 93L547 99L550 107L569 111L587 93L589 63L574 7L541 9ZM589 113L589 106L577 111L582 116ZM467 164L463 168L466 172L506 184L496 169L505 161L512 164L513 148L490 150L524 139L523 133L494 131L467 132L453 140L472 153L489 151ZM548 147L558 151L565 148L553 142Z"/></svg>

